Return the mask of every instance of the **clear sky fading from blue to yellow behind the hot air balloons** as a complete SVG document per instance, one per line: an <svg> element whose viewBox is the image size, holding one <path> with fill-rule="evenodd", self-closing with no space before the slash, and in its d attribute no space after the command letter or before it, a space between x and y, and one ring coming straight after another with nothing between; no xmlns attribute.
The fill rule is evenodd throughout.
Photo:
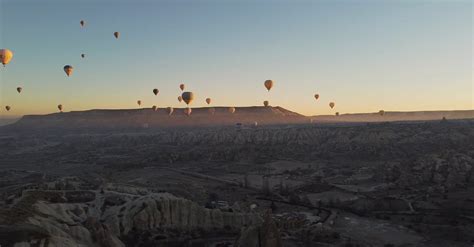
<svg viewBox="0 0 474 247"><path fill-rule="evenodd" d="M192 107L473 109L473 37L470 0L0 0L0 116L184 107L180 83Z"/></svg>

